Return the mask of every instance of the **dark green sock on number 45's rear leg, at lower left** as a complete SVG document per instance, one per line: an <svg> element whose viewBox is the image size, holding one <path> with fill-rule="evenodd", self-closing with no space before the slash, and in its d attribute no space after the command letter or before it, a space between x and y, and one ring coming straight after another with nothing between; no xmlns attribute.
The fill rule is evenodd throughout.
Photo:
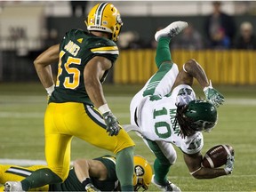
<svg viewBox="0 0 256 192"><path fill-rule="evenodd" d="M39 188L44 185L59 183L62 180L49 168L43 168L32 172L26 179L21 180L23 190L28 191L30 188Z"/></svg>

